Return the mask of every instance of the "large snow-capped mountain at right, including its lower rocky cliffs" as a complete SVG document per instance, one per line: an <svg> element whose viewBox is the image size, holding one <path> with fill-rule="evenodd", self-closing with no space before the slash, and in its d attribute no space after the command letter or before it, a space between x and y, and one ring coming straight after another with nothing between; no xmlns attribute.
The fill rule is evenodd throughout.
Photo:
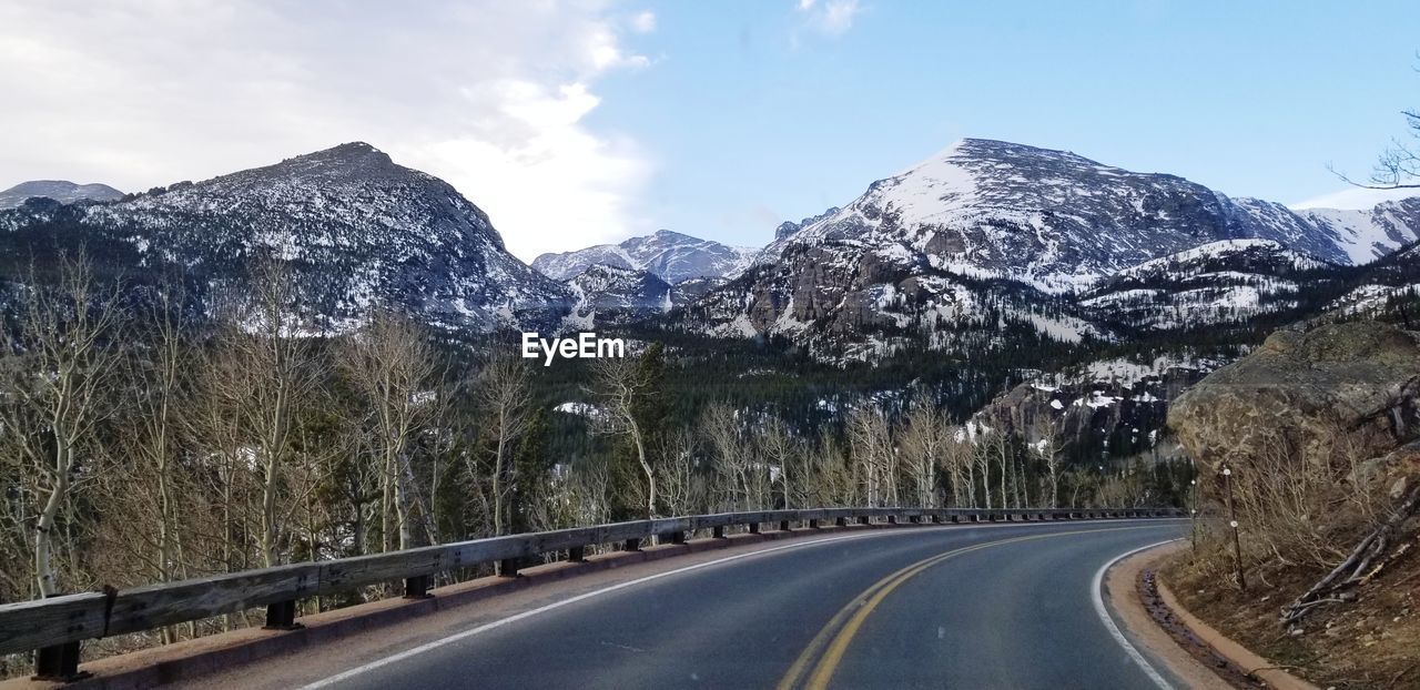
<svg viewBox="0 0 1420 690"><path fill-rule="evenodd" d="M1413 204L1420 199L1321 223L1325 212L1304 216L1231 199L1173 175L964 139L798 230L781 226L740 278L687 307L686 328L790 336L834 359L960 349L963 338L987 338L1008 324L1066 344L1108 339L1112 327L1099 318L1110 307L1108 285L1116 301L1127 301L1120 284L1109 283L1116 275L1143 278L1150 261L1179 254L1176 264L1196 264L1187 268L1194 275L1177 275L1177 288L1196 291L1184 301L1217 302L1221 318L1233 314L1231 302L1247 302L1250 290L1287 290L1218 275L1221 264L1353 264L1414 239ZM1382 223L1384 233L1376 230ZM1245 239L1268 244L1228 244ZM1186 254L1214 243L1224 244ZM1091 290L1098 302L1079 304ZM1162 314L1137 317L1139 327L1169 328ZM1005 346L1005 336L997 338Z"/></svg>

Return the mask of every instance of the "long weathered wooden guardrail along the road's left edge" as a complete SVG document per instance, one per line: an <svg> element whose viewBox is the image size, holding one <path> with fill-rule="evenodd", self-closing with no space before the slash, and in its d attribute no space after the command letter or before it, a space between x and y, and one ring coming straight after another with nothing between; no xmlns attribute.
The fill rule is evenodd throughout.
<svg viewBox="0 0 1420 690"><path fill-rule="evenodd" d="M961 510L961 508L818 508L720 513L660 520L636 520L550 532L514 534L460 541L388 554L314 561L274 568L230 572L206 578L163 582L132 589L71 593L0 605L0 655L36 652L36 677L80 677L80 642L112 635L200 620L223 613L266 606L266 628L295 629L295 603L308 596L349 592L365 585L403 581L406 598L427 596L429 578L439 572L498 564L501 575L515 575L520 561L565 552L582 561L586 547L619 544L636 551L646 540L683 544L687 534L710 531L724 538L728 527L758 532L764 524L790 530L794 522L816 528L888 522L997 522L1181 517L1174 508L1133 510Z"/></svg>

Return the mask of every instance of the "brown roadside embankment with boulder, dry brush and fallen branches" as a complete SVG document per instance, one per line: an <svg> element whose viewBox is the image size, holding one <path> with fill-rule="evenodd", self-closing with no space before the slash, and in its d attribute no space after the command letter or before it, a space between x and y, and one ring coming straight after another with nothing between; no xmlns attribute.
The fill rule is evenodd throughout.
<svg viewBox="0 0 1420 690"><path fill-rule="evenodd" d="M1197 383L1169 425L1214 517L1164 581L1321 687L1420 689L1417 410L1420 334L1376 322L1278 332Z"/></svg>

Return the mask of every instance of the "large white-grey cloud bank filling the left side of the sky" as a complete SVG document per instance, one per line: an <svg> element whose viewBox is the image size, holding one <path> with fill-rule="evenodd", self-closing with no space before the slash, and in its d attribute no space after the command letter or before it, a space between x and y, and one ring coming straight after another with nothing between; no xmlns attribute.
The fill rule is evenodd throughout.
<svg viewBox="0 0 1420 690"><path fill-rule="evenodd" d="M586 115L599 80L650 64L625 17L599 0L0 3L0 186L141 190L366 141L453 183L524 258L616 239L652 162Z"/></svg>

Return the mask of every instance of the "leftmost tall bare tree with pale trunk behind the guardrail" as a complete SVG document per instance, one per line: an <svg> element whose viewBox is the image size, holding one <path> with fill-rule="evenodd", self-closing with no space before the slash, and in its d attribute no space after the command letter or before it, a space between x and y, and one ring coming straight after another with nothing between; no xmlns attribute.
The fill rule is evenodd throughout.
<svg viewBox="0 0 1420 690"><path fill-rule="evenodd" d="M105 419L102 396L118 366L114 342L119 290L101 290L92 264L61 257L58 283L41 287L31 271L23 322L7 332L6 396L0 403L7 450L34 477L33 575L40 596L60 591L54 548L60 514L78 473L95 450L95 426Z"/></svg>

